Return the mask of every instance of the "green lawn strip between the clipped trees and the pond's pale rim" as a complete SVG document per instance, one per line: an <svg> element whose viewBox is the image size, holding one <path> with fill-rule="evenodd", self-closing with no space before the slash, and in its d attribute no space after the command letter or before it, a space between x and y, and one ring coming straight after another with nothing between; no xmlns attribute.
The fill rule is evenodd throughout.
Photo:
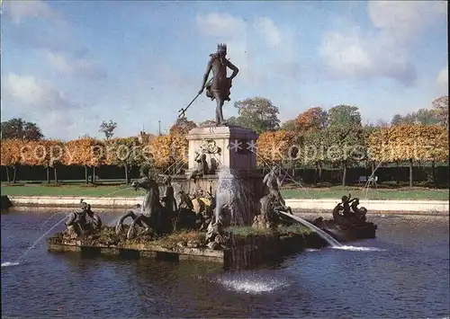
<svg viewBox="0 0 450 319"><path fill-rule="evenodd" d="M283 190L285 199L339 199L351 193L354 197L365 199L362 187L322 187ZM2 195L17 196L86 196L86 197L136 197L143 191L134 191L125 185L85 185L85 184L2 184ZM367 199L430 199L448 200L449 191L427 188L374 189L367 192Z"/></svg>

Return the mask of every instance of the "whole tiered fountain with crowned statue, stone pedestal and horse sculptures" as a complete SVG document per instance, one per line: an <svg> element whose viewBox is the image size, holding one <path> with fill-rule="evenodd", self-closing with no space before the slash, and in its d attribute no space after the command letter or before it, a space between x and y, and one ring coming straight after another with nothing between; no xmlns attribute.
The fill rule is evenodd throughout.
<svg viewBox="0 0 450 319"><path fill-rule="evenodd" d="M340 245L332 234L293 216L280 193L276 167L266 176L259 173L257 134L223 121L221 108L238 74L225 54L226 46L220 45L204 76L199 95L206 85L207 96L216 100L216 125L187 134L187 172L164 176L163 182L150 175L133 182L136 191L146 192L143 203L124 213L115 227L102 225L90 205L82 202L82 211L71 215L67 229L49 238L49 251L197 259L242 269L307 247ZM234 71L230 78L224 65ZM214 77L206 84L210 70ZM181 190L175 192L172 182ZM159 188L165 190L162 197ZM129 217L130 226L124 224Z"/></svg>

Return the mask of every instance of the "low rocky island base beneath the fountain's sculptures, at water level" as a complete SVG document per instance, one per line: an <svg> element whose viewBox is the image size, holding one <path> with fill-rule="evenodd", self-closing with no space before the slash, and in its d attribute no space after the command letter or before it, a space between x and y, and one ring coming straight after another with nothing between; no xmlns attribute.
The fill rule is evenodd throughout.
<svg viewBox="0 0 450 319"><path fill-rule="evenodd" d="M89 256L212 261L221 263L225 269L252 269L278 261L286 254L327 245L319 235L303 226L278 226L275 229L231 227L224 233L226 240L211 249L203 232L185 231L157 238L141 235L127 239L126 233L117 235L113 227L105 226L99 233L73 239L58 233L48 239L48 249L54 253L77 252Z"/></svg>

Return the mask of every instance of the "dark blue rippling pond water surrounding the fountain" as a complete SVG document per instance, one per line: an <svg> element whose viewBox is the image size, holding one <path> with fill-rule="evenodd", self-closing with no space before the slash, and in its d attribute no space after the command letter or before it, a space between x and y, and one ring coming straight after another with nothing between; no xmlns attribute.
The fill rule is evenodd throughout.
<svg viewBox="0 0 450 319"><path fill-rule="evenodd" d="M119 214L103 217L105 224ZM14 264L54 225L39 229L50 215L2 215L2 316L449 316L447 217L372 217L376 239L307 250L265 270L85 259L48 253L45 240Z"/></svg>

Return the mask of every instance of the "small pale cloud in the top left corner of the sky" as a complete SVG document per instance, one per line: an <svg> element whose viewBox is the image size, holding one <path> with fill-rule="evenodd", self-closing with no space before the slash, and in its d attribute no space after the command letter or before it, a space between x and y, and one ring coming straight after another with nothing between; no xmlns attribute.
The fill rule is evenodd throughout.
<svg viewBox="0 0 450 319"><path fill-rule="evenodd" d="M49 4L40 0L4 1L5 13L11 16L15 24L26 18L54 19L58 16Z"/></svg>

